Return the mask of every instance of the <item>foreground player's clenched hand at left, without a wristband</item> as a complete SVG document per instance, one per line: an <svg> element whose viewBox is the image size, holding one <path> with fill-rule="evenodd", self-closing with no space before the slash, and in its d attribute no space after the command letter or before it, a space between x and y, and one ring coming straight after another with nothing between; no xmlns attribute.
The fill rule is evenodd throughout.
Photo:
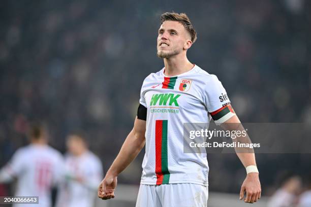
<svg viewBox="0 0 311 207"><path fill-rule="evenodd" d="M106 175L104 180L98 186L98 197L103 200L114 198L114 189L117 185L117 177Z"/></svg>

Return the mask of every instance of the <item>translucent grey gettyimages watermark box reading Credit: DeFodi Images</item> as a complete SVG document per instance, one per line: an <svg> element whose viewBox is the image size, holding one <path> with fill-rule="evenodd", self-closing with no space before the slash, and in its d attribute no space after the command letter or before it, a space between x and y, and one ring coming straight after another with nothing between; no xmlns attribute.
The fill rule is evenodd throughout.
<svg viewBox="0 0 311 207"><path fill-rule="evenodd" d="M225 124L225 123L224 123ZM184 153L311 153L306 123L184 123Z"/></svg>

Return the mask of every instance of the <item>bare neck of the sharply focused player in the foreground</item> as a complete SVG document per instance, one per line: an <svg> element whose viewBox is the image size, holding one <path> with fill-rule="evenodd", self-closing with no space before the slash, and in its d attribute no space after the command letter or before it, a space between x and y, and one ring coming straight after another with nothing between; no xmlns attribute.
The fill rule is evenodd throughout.
<svg viewBox="0 0 311 207"><path fill-rule="evenodd" d="M166 76L177 76L186 73L193 68L193 64L188 60L185 54L180 53L169 58L164 58Z"/></svg>

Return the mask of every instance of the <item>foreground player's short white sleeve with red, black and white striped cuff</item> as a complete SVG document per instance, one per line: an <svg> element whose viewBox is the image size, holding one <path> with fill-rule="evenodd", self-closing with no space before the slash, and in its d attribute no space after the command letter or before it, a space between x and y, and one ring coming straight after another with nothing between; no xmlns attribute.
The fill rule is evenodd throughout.
<svg viewBox="0 0 311 207"><path fill-rule="evenodd" d="M217 125L226 122L235 115L225 88L214 75L209 77L204 87L204 103Z"/></svg>

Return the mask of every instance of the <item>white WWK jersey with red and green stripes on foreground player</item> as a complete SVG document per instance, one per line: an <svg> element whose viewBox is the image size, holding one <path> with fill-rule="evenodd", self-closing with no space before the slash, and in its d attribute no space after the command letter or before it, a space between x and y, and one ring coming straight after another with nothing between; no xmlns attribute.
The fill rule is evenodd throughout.
<svg viewBox="0 0 311 207"><path fill-rule="evenodd" d="M147 108L146 149L141 184L193 183L207 186L206 153L183 153L183 123L223 123L234 115L216 76L195 65L166 77L163 68L143 82L140 103Z"/></svg>

